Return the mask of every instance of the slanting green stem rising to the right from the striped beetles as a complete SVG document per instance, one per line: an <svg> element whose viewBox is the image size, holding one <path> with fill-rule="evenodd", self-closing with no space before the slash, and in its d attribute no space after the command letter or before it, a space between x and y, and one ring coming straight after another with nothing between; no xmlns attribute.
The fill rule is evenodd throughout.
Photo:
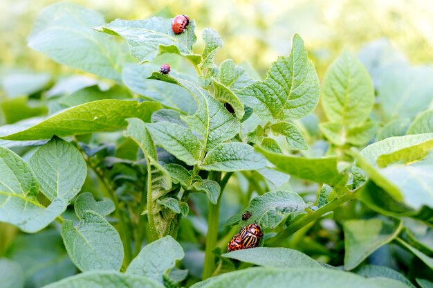
<svg viewBox="0 0 433 288"><path fill-rule="evenodd" d="M286 240L290 235L292 235L296 231L300 230L300 228L302 228L302 227L306 226L307 224L319 219L320 217L322 217L322 215L324 215L328 212L331 212L332 210L334 210L335 208L337 208L341 204L343 204L349 200L355 199L355 198L356 198L356 192L349 192L347 190L346 195L344 195L338 199L335 199L331 203L326 204L325 206L315 210L313 213L308 214L308 215L298 219L297 221L293 222L292 224L290 224L286 229L284 229L283 231L278 233L275 237L270 239L266 243L266 246L277 246L278 244L280 244L281 242Z"/></svg>

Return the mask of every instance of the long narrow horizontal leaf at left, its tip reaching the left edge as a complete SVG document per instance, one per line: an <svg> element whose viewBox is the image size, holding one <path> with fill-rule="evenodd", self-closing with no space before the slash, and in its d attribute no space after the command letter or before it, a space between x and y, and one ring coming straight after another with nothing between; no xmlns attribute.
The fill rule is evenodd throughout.
<svg viewBox="0 0 433 288"><path fill-rule="evenodd" d="M42 122L20 132L0 138L6 140L39 140L56 135L59 137L89 134L122 129L126 118L137 117L150 121L151 114L160 109L156 102L135 100L99 100L59 112Z"/></svg>

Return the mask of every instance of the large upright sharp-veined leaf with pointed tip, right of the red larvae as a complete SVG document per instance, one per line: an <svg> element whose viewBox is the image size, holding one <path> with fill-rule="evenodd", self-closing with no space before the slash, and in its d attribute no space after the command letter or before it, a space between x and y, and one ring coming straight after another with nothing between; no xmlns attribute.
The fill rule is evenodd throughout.
<svg viewBox="0 0 433 288"><path fill-rule="evenodd" d="M264 82L255 82L237 92L264 120L307 116L317 106L319 95L319 79L299 35L293 36L291 55L279 57Z"/></svg>

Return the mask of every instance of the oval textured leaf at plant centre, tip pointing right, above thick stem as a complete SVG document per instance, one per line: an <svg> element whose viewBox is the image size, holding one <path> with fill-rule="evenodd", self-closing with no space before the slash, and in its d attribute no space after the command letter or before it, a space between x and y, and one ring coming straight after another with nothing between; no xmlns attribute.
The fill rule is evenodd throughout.
<svg viewBox="0 0 433 288"><path fill-rule="evenodd" d="M257 170L266 166L266 159L245 143L220 144L205 156L201 167L214 171Z"/></svg>

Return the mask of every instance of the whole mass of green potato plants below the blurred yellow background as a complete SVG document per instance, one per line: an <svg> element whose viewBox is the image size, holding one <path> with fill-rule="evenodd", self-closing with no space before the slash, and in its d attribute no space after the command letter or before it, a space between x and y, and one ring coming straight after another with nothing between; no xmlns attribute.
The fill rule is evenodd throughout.
<svg viewBox="0 0 433 288"><path fill-rule="evenodd" d="M295 35L258 80L194 28L42 10L28 46L97 77L1 102L0 221L36 233L4 226L6 287L431 287L432 69L376 42L320 84Z"/></svg>

